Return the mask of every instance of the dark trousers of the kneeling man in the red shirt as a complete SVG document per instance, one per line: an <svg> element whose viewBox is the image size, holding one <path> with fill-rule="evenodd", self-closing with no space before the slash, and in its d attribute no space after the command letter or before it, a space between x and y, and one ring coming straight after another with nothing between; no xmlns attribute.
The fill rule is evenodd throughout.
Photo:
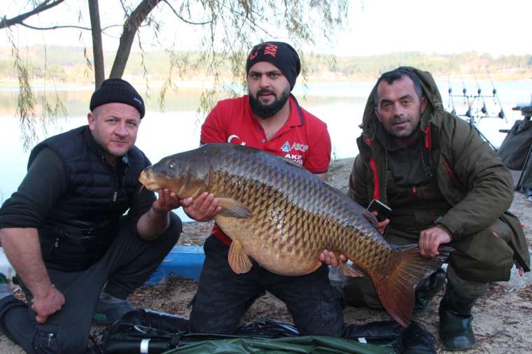
<svg viewBox="0 0 532 354"><path fill-rule="evenodd" d="M191 332L235 332L248 306L267 290L286 304L302 335L342 334L342 303L325 265L304 276L279 276L253 261L248 273L235 274L228 263L229 246L211 235L204 250L200 285L190 313Z"/></svg>

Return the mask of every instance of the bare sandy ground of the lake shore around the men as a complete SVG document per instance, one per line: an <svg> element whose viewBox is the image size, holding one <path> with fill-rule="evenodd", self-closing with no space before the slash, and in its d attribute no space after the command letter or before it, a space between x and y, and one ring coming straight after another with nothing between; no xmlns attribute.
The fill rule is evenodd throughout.
<svg viewBox="0 0 532 354"><path fill-rule="evenodd" d="M347 180L353 159L332 162L329 180L342 191L347 190ZM517 180L518 174L514 173ZM510 210L521 219L529 248L532 248L532 202L526 201L523 194L515 193ZM209 236L211 223L186 223L179 240L180 245L201 245ZM168 282L142 288L134 292L130 301L134 306L172 313L188 318L190 300L197 289L197 282L182 278L170 278ZM436 339L438 353L446 353L437 334L439 317L437 304L443 290L435 298L430 309L421 317L415 318L426 326ZM509 282L492 283L486 295L479 299L473 308L475 318L473 327L477 338L477 347L464 353L532 353L532 272L520 277L515 271ZM258 299L242 318L242 323L271 318L291 323L286 306L272 295ZM368 323L375 320L388 320L390 316L384 311L371 311L346 307L346 323ZM94 331L102 327L94 327ZM0 353L24 353L22 349L0 336Z"/></svg>

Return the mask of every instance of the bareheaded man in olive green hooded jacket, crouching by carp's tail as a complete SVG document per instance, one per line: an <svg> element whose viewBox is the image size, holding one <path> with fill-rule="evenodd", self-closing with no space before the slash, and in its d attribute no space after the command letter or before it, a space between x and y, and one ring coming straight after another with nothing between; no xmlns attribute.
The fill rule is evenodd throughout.
<svg viewBox="0 0 532 354"><path fill-rule="evenodd" d="M476 299L489 282L509 280L514 263L529 271L519 220L507 212L510 171L473 127L444 111L425 71L401 67L384 73L367 101L362 127L349 196L363 206L378 199L391 207L378 225L391 243L419 243L426 257L437 255L441 244L455 249L440 303L440 337L447 350L474 347ZM363 279L345 282L346 302L377 306L371 283ZM421 282L417 290L423 286L430 289ZM419 297L422 291L416 302Z"/></svg>

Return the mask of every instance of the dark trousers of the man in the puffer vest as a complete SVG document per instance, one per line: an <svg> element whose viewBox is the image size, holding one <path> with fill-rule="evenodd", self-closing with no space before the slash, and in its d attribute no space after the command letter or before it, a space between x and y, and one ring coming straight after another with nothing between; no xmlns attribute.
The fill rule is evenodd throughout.
<svg viewBox="0 0 532 354"><path fill-rule="evenodd" d="M85 353L92 316L99 294L106 292L125 299L139 288L172 250L181 234L181 220L170 213L170 226L155 241L143 241L132 234L132 221L125 218L107 253L85 271L48 269L52 284L65 303L43 325L27 304L8 296L0 300L0 328L3 334L27 353ZM23 286L31 302L31 293Z"/></svg>

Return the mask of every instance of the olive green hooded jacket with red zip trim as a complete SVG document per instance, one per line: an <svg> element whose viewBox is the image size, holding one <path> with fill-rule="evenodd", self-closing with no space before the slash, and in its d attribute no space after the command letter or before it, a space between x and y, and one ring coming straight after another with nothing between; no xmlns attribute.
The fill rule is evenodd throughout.
<svg viewBox="0 0 532 354"><path fill-rule="evenodd" d="M468 122L444 111L442 98L430 73L412 67L427 99L420 127L430 164L436 168L440 191L451 208L436 220L461 239L490 227L497 218L510 226L514 235L510 246L518 264L529 270L530 256L520 222L507 212L513 200L513 180L500 158L479 138ZM384 129L374 113L375 86L367 99L361 136L357 139L359 155L349 178L349 196L367 206L371 199L386 204L386 150L376 139Z"/></svg>

